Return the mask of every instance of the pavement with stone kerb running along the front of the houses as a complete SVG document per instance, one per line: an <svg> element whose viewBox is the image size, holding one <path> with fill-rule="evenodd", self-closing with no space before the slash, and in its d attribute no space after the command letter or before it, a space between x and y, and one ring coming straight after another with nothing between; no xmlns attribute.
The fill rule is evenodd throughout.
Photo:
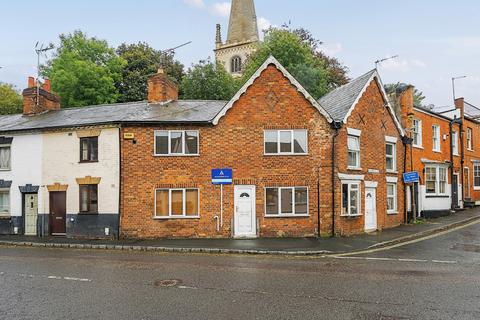
<svg viewBox="0 0 480 320"><path fill-rule="evenodd" d="M362 252L426 237L480 221L480 208L426 220L420 224L353 237L261 239L87 240L64 237L0 236L0 245L159 252L328 255Z"/></svg>

